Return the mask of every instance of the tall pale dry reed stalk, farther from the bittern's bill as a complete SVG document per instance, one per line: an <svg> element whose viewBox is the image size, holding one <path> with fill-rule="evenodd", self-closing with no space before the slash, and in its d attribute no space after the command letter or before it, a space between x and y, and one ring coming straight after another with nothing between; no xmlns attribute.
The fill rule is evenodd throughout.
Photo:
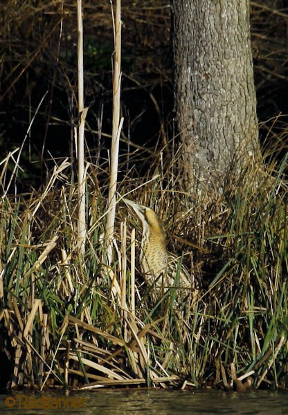
<svg viewBox="0 0 288 415"><path fill-rule="evenodd" d="M80 254L85 253L86 217L85 217L85 169L84 169L84 128L88 109L84 109L84 73L83 73L83 21L82 0L77 0L78 21L78 247Z"/></svg>

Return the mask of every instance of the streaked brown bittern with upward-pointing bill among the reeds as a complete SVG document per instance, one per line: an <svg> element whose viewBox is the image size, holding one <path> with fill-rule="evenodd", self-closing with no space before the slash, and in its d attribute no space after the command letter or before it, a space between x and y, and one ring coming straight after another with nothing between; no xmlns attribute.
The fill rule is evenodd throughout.
<svg viewBox="0 0 288 415"><path fill-rule="evenodd" d="M185 266L178 266L179 257L168 252L165 230L154 210L129 199L123 198L123 201L133 208L142 223L140 266L147 285L154 286L156 294L163 292L163 288L165 292L177 286L177 297L192 293L194 303L197 290L192 284L192 277ZM178 284L175 284L176 277Z"/></svg>

